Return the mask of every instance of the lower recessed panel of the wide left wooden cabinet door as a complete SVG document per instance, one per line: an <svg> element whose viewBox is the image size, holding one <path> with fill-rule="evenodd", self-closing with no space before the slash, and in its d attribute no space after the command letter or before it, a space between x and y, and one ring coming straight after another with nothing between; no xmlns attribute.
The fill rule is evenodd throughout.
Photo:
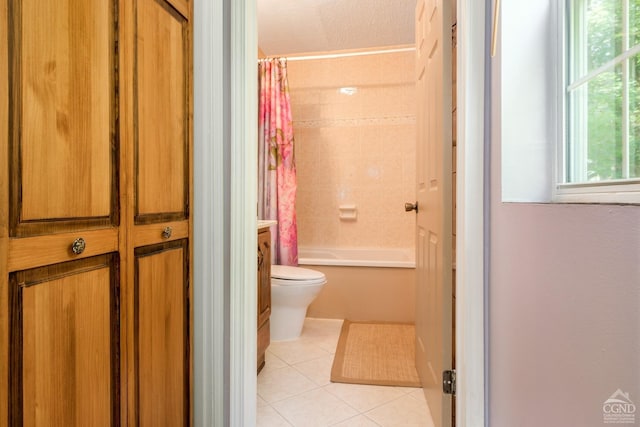
<svg viewBox="0 0 640 427"><path fill-rule="evenodd" d="M11 274L10 425L119 425L117 255Z"/></svg>

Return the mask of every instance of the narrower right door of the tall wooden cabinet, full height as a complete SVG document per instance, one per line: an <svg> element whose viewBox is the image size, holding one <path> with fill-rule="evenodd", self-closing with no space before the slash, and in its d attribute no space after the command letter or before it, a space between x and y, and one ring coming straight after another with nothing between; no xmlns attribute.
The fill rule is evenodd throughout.
<svg viewBox="0 0 640 427"><path fill-rule="evenodd" d="M137 0L133 8L131 425L191 424L189 3Z"/></svg>

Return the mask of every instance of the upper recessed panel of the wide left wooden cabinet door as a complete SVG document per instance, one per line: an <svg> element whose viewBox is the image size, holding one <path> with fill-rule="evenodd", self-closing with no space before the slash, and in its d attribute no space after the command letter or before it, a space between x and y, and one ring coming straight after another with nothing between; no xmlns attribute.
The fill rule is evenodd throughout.
<svg viewBox="0 0 640 427"><path fill-rule="evenodd" d="M9 2L13 236L118 223L114 10Z"/></svg>

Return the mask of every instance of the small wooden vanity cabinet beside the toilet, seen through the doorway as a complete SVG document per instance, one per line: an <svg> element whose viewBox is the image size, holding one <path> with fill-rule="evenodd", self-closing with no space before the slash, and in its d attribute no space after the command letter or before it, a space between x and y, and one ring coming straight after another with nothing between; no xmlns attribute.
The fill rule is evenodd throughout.
<svg viewBox="0 0 640 427"><path fill-rule="evenodd" d="M264 353L270 342L271 315L271 233L258 231L258 372L264 367Z"/></svg>

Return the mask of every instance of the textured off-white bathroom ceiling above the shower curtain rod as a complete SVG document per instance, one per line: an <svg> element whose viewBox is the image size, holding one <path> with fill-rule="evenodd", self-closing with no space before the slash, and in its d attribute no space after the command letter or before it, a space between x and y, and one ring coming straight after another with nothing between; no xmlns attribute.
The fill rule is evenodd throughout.
<svg viewBox="0 0 640 427"><path fill-rule="evenodd" d="M416 0L257 0L268 56L413 45Z"/></svg>

